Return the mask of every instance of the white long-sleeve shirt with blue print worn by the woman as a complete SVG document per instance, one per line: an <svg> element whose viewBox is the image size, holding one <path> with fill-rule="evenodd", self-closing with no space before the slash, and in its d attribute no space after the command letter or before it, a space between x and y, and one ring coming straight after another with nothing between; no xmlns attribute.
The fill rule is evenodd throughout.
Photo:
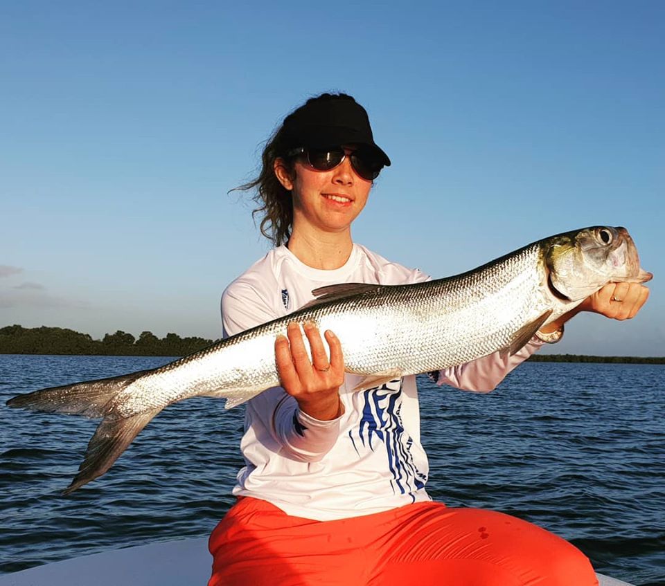
<svg viewBox="0 0 665 586"><path fill-rule="evenodd" d="M233 281L222 295L224 336L296 311L312 290L339 283L401 285L429 277L354 244L344 266L323 271L280 246ZM438 374L438 384L489 391L542 345L532 340L514 356L490 354ZM416 377L352 392L360 377L347 374L339 394L344 414L319 421L298 408L281 387L247 403L240 448L245 467L234 495L267 500L289 515L315 520L378 513L431 500L429 465L420 443Z"/></svg>

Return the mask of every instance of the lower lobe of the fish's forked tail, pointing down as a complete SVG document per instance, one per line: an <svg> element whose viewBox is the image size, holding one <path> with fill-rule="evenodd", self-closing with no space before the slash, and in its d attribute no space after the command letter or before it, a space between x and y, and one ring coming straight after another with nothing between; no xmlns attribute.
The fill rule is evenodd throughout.
<svg viewBox="0 0 665 586"><path fill-rule="evenodd" d="M85 458L78 467L77 475L62 494L69 495L77 488L103 475L160 411L161 408L130 417L105 417L88 442Z"/></svg>

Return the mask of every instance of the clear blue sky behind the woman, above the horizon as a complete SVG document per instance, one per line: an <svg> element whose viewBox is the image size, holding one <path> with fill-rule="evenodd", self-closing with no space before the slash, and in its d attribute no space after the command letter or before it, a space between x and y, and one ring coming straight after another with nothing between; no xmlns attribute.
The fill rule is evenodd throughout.
<svg viewBox="0 0 665 586"><path fill-rule="evenodd" d="M626 226L652 294L551 351L665 355L665 4L37 2L0 8L0 326L220 335L269 248L227 192L321 91L393 165L357 241L434 277Z"/></svg>

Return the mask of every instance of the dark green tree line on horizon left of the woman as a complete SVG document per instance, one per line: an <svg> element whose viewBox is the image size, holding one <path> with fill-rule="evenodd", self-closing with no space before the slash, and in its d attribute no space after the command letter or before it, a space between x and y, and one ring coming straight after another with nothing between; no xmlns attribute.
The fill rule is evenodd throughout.
<svg viewBox="0 0 665 586"><path fill-rule="evenodd" d="M181 338L167 333L157 338L143 331L139 338L118 330L93 340L87 333L66 328L0 328L0 354L84 354L89 356L185 356L213 343L206 338Z"/></svg>

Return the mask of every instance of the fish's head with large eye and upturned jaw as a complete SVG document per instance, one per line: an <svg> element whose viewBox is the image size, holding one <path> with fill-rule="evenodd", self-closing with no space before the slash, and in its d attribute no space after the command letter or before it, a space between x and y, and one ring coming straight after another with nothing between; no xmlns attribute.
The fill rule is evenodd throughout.
<svg viewBox="0 0 665 586"><path fill-rule="evenodd" d="M543 243L549 287L567 300L583 300L608 283L644 283L653 277L639 265L626 228L592 226Z"/></svg>

